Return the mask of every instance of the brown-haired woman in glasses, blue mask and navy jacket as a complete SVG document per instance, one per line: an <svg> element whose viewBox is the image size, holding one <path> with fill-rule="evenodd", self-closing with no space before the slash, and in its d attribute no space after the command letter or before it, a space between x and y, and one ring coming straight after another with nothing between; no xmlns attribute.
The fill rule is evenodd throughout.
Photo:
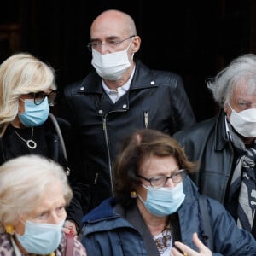
<svg viewBox="0 0 256 256"><path fill-rule="evenodd" d="M239 230L224 207L207 198L212 251L202 225L190 162L169 135L140 130L128 137L114 165L115 198L84 216L87 254L256 255L256 241Z"/></svg>

